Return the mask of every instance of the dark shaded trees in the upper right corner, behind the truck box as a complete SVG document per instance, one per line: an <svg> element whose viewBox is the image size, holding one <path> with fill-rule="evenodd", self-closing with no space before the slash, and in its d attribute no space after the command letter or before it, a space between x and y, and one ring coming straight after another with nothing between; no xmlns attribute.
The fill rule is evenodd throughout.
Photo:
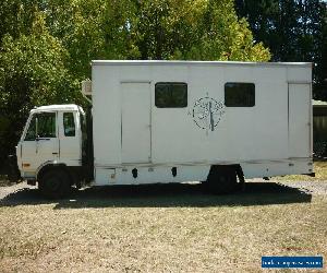
<svg viewBox="0 0 327 273"><path fill-rule="evenodd" d="M327 3L323 0L235 0L274 61L314 62L314 97L327 100Z"/></svg>

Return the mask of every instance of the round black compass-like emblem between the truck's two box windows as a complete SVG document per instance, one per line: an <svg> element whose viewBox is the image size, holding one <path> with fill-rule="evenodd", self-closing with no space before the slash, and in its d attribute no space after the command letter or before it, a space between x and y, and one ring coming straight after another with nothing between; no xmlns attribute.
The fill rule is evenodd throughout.
<svg viewBox="0 0 327 273"><path fill-rule="evenodd" d="M208 131L215 131L215 128L225 114L225 105L222 102L208 96L197 99L193 106L193 120L195 124Z"/></svg>

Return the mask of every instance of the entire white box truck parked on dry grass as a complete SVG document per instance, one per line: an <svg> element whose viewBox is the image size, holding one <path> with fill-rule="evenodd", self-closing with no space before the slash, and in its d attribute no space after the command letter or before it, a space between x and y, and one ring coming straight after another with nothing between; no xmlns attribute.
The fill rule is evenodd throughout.
<svg viewBox="0 0 327 273"><path fill-rule="evenodd" d="M87 94L88 114L33 109L17 144L21 177L48 197L85 180L226 193L244 177L314 174L312 63L96 60Z"/></svg>

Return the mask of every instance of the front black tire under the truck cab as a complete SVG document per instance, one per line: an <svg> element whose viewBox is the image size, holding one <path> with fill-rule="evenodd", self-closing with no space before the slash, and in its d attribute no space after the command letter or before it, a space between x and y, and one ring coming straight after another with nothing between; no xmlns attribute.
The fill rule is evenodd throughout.
<svg viewBox="0 0 327 273"><path fill-rule="evenodd" d="M70 176L60 168L47 170L38 181L38 189L49 199L68 197L71 192Z"/></svg>

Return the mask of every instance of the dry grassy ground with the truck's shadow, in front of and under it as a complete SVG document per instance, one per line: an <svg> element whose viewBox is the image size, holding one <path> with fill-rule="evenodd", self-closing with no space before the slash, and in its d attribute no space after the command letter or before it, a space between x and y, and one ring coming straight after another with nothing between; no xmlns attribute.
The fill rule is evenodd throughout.
<svg viewBox="0 0 327 273"><path fill-rule="evenodd" d="M3 272L261 272L262 256L327 258L327 195L272 182L222 197L86 189L60 202L22 190L1 204Z"/></svg>

